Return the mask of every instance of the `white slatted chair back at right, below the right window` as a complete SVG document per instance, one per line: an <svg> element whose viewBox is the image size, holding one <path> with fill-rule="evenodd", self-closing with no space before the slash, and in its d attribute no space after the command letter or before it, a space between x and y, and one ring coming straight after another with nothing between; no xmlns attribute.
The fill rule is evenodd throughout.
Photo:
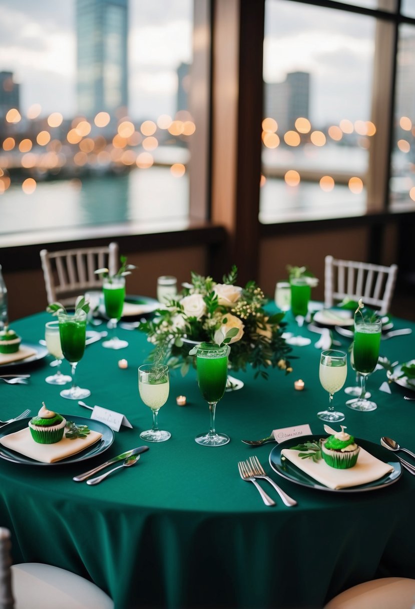
<svg viewBox="0 0 415 609"><path fill-rule="evenodd" d="M391 305L398 267L382 266L326 256L324 267L324 306L330 308L343 298L363 299L364 305L385 315Z"/></svg>

